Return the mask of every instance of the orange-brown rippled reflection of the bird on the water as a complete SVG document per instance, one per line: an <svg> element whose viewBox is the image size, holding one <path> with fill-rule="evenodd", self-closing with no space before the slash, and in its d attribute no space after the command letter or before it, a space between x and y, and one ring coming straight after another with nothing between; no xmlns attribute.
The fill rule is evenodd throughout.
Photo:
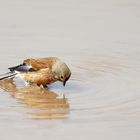
<svg viewBox="0 0 140 140"><path fill-rule="evenodd" d="M65 97L36 85L17 87L12 79L0 81L0 88L18 99L20 106L28 108L32 119L66 118L69 104Z"/></svg>

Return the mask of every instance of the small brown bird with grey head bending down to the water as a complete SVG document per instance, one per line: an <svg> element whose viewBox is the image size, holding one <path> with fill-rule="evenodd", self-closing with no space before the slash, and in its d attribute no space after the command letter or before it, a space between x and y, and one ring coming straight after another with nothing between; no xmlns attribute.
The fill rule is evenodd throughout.
<svg viewBox="0 0 140 140"><path fill-rule="evenodd" d="M8 68L10 72L1 75L3 79L21 77L29 84L43 85L61 81L65 86L71 76L68 66L56 57L26 59L22 64Z"/></svg>

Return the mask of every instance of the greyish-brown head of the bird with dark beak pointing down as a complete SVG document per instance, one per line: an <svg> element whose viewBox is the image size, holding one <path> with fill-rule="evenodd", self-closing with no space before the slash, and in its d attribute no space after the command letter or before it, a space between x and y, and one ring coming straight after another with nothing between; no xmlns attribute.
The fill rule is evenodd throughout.
<svg viewBox="0 0 140 140"><path fill-rule="evenodd" d="M61 61L56 62L52 66L52 73L54 75L54 78L62 82L64 86L71 76L70 69L64 62Z"/></svg>

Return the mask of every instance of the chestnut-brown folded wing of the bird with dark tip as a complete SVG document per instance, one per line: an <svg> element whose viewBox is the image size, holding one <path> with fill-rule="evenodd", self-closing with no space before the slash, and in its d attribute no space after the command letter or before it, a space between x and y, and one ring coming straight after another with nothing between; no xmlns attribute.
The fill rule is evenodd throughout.
<svg viewBox="0 0 140 140"><path fill-rule="evenodd" d="M23 61L23 64L18 66L8 68L10 71L20 71L20 72L28 72L28 71L38 71L45 68L50 68L52 65L58 60L56 57L48 57L48 58L39 58L39 59L26 59Z"/></svg>

